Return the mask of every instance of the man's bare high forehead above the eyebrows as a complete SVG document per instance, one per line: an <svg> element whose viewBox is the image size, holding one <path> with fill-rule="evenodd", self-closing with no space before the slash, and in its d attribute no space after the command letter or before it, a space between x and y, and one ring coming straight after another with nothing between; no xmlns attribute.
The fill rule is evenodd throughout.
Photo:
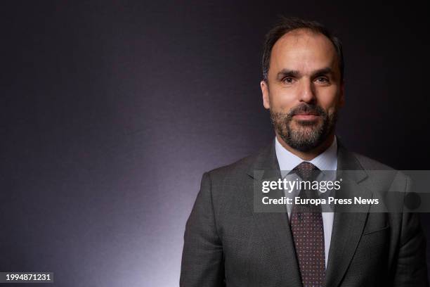
<svg viewBox="0 0 430 287"><path fill-rule="evenodd" d="M275 43L269 73L285 68L311 72L327 67L339 70L337 53L330 39L323 34L300 29L288 32Z"/></svg>

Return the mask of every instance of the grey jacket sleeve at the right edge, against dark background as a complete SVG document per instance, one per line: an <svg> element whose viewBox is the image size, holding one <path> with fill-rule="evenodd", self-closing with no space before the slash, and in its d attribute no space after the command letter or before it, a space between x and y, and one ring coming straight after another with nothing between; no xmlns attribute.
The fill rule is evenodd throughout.
<svg viewBox="0 0 430 287"><path fill-rule="evenodd" d="M410 192L407 177L406 193ZM426 264L426 238L419 214L403 212L400 233L400 247L396 262L393 286L429 286Z"/></svg>

